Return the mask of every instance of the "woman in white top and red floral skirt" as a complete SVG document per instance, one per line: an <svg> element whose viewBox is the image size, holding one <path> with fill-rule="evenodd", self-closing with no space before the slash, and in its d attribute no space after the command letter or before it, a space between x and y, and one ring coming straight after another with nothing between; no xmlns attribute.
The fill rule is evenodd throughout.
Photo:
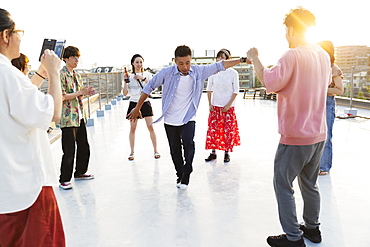
<svg viewBox="0 0 370 247"><path fill-rule="evenodd" d="M231 59L230 51L221 49L216 60ZM216 149L225 151L224 162L230 161L229 152L240 145L238 123L234 102L239 93L239 75L233 68L219 72L208 78L207 94L209 103L208 131L206 149L212 153L206 161L217 158Z"/></svg>

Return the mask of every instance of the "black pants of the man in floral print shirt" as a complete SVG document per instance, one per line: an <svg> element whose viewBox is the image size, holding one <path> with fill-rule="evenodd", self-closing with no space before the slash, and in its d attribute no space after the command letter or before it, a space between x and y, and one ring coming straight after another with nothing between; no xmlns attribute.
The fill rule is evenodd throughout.
<svg viewBox="0 0 370 247"><path fill-rule="evenodd" d="M72 178L73 163L76 153L76 171L74 176L79 176L87 172L90 159L90 145L87 141L85 121L81 119L80 127L62 128L62 164L60 167L59 182L69 182Z"/></svg>

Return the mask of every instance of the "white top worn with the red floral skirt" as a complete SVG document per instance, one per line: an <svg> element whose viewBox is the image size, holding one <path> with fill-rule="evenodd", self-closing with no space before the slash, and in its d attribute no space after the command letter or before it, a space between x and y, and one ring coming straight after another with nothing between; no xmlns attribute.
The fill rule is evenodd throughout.
<svg viewBox="0 0 370 247"><path fill-rule="evenodd" d="M212 105L224 107L233 94L239 93L239 75L233 68L228 68L208 78L207 91L213 91ZM235 105L235 100L231 107Z"/></svg>

